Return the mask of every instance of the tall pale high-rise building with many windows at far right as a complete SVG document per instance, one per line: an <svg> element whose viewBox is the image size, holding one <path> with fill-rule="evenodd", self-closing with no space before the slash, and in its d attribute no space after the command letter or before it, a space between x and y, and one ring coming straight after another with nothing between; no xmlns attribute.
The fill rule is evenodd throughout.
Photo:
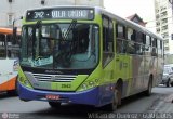
<svg viewBox="0 0 173 119"><path fill-rule="evenodd" d="M169 0L155 0L156 31L164 39L164 54L173 54L173 10Z"/></svg>

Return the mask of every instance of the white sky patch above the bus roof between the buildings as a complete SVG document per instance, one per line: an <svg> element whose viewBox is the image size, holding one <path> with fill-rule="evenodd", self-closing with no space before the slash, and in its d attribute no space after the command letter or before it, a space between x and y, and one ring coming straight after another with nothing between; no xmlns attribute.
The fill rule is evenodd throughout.
<svg viewBox="0 0 173 119"><path fill-rule="evenodd" d="M154 27L155 1L154 0L104 0L104 8L121 17L128 17L135 13L144 22L148 22L147 27Z"/></svg>

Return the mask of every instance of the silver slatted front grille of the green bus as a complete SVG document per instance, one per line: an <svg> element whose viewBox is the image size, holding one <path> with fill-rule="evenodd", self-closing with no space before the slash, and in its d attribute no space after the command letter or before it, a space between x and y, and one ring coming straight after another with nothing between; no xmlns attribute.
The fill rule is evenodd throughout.
<svg viewBox="0 0 173 119"><path fill-rule="evenodd" d="M77 76L74 75L32 74L32 76L38 81L50 81L50 82L71 82L77 78Z"/></svg>

